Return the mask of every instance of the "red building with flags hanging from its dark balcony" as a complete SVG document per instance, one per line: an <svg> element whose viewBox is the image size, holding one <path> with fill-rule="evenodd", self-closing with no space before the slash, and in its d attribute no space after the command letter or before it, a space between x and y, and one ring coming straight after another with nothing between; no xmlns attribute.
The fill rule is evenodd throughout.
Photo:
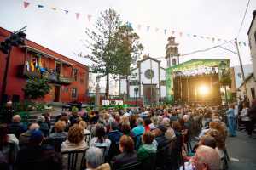
<svg viewBox="0 0 256 170"><path fill-rule="evenodd" d="M0 27L0 42L10 34L10 31ZM0 87L3 85L5 65L6 55L0 52ZM44 97L44 102L87 100L89 68L29 40L26 40L26 46L13 47L11 50L5 97L23 101L22 88L26 84L26 78L38 77L42 71L46 72L52 86L50 93ZM3 94L1 90L2 88L0 94Z"/></svg>

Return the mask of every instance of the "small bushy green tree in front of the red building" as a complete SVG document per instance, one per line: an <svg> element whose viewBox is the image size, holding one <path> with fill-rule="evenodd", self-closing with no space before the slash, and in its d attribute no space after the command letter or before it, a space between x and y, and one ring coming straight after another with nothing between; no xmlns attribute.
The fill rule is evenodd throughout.
<svg viewBox="0 0 256 170"><path fill-rule="evenodd" d="M25 88L22 90L27 99L44 98L49 94L51 87L45 77L32 77L26 80Z"/></svg>

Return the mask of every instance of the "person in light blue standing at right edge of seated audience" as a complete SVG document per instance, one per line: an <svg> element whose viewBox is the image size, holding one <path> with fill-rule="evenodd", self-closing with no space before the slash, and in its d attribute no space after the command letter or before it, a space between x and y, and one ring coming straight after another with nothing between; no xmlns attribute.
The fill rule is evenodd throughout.
<svg viewBox="0 0 256 170"><path fill-rule="evenodd" d="M228 116L228 123L229 123L229 136L235 137L236 136L236 116L235 116L235 110L234 105L229 105L229 110L226 111L226 114Z"/></svg>

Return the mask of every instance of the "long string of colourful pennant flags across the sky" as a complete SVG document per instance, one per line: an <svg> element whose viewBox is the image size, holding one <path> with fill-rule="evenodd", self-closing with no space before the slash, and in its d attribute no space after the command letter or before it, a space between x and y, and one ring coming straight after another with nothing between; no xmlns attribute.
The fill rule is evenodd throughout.
<svg viewBox="0 0 256 170"><path fill-rule="evenodd" d="M26 2L24 1L23 2L23 7L26 9L26 8L29 8L31 7L32 4L29 3L29 2ZM76 20L79 20L81 18L84 18L84 20L88 20L89 22L92 20L92 18L94 17L93 15L91 14L82 14L82 13L79 13L79 12L73 12L71 10L68 10L68 9L62 9L62 8L55 8L55 7L47 7L45 5L42 5L42 4L36 4L36 5L33 5L33 7L36 7L36 8L49 8L51 10L54 10L54 11L62 11L64 14L74 14ZM183 31L175 31L175 30L171 30L171 29L167 29L167 28L159 28L159 27L153 27L153 26L143 26L142 24L137 24L137 26L134 26L134 24L132 24L131 22L127 22L127 25L130 26L130 27L133 27L133 28L136 28L137 30L139 31L142 31L143 30L143 27L146 31L154 31L154 32L162 32L164 33L165 35L167 33L171 33L172 36L178 36L178 37L194 37L194 38L199 38L199 39L205 39L205 40L209 40L209 41L212 41L212 42L230 42L226 39L223 39L223 38L218 38L218 37L207 37L207 36L201 36L201 35L196 35L196 34L191 34L191 33L185 33ZM232 43L236 43L235 40L234 41L231 41ZM243 46L247 46L247 42L238 42L238 45L241 47L241 45Z"/></svg>

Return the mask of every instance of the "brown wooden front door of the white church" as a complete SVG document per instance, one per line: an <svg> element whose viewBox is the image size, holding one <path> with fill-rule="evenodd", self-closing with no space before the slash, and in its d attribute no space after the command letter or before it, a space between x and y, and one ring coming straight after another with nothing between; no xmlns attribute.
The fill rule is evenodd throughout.
<svg viewBox="0 0 256 170"><path fill-rule="evenodd" d="M143 84L143 99L145 104L156 102L156 84Z"/></svg>

